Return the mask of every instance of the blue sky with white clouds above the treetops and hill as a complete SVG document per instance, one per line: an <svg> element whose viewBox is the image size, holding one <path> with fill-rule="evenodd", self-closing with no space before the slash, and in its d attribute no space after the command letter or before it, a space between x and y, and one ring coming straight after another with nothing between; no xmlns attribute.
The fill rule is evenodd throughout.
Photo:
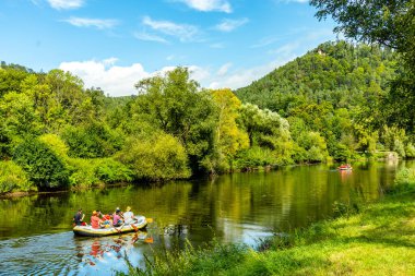
<svg viewBox="0 0 415 276"><path fill-rule="evenodd" d="M315 13L307 0L0 0L0 60L71 71L111 96L177 65L238 88L334 40Z"/></svg>

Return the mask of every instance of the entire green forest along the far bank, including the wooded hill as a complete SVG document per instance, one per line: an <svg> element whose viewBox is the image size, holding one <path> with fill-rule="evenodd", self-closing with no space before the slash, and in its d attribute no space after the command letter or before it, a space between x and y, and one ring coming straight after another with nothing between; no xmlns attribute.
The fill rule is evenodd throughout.
<svg viewBox="0 0 415 276"><path fill-rule="evenodd" d="M1 62L0 193L415 157L411 130L386 120L398 70L394 50L336 41L236 92L177 68L114 98L69 72Z"/></svg>

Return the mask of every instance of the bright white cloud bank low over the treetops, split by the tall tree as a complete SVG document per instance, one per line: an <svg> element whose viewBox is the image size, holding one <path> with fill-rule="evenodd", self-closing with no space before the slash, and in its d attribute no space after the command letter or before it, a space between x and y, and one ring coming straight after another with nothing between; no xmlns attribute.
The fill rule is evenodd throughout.
<svg viewBox="0 0 415 276"><path fill-rule="evenodd" d="M103 61L62 62L59 69L69 71L81 77L84 81L85 87L100 87L105 94L109 94L110 96L137 95L138 92L134 88L134 84L139 81L156 74L164 74L175 69L175 67L165 67L159 71L146 72L141 63L117 67L115 65L117 60L116 58L109 58ZM229 72L232 63L225 63L217 70L198 65L188 65L188 68L191 72L191 77L199 82L202 87L228 87L235 89L262 77L286 61L285 59L281 59L252 69L238 69L232 72Z"/></svg>

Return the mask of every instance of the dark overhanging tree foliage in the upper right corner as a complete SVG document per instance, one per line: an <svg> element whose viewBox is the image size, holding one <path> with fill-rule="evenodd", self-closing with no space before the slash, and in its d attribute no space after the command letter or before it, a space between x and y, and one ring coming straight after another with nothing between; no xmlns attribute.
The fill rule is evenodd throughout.
<svg viewBox="0 0 415 276"><path fill-rule="evenodd" d="M402 59L399 76L384 100L390 123L415 130L415 1L311 0L317 17L331 15L335 32L348 38L395 49Z"/></svg>

